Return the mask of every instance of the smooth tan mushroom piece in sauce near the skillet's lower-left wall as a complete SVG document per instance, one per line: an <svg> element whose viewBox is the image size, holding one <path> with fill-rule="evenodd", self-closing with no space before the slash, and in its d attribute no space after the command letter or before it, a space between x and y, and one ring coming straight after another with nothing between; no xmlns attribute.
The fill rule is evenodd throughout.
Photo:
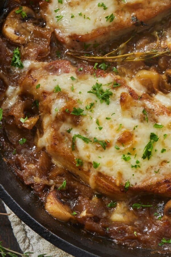
<svg viewBox="0 0 171 257"><path fill-rule="evenodd" d="M58 195L59 192L55 190L51 191L45 200L45 210L52 215L54 218L61 221L70 221L74 219L71 215L72 210L60 200Z"/></svg>

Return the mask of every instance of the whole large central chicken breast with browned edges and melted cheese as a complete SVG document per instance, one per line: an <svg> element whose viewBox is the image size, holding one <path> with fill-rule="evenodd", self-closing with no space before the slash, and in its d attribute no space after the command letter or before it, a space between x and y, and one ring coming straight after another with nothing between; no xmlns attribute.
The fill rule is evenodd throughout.
<svg viewBox="0 0 171 257"><path fill-rule="evenodd" d="M21 91L27 91L40 101L44 134L38 139L38 147L45 147L54 163L106 194L125 195L124 185L129 180L128 192L171 195L170 93L149 96L142 88L138 89L139 81L135 78L113 87L118 76L112 73L98 78L86 73L79 76L77 68L62 60L52 63L25 61L25 67L27 70L20 80ZM113 93L109 105L104 100L101 103L95 94L87 93L95 83L101 83L104 91L110 89ZM40 84L38 89L37 84ZM57 85L61 91L54 92ZM160 99L158 94L162 96ZM138 98L139 95L142 97ZM90 103L94 105L86 109ZM85 115L70 114L73 107L84 109ZM163 127L155 128L155 123ZM67 132L69 128L72 128L70 133ZM155 133L159 139L153 143L150 159L143 160L150 133ZM78 134L92 142L94 138L104 140L106 149L99 142L87 144L76 137L72 150L72 138ZM161 152L162 149L166 151ZM76 166L76 158L83 161L83 166ZM97 169L93 168L93 161L100 163Z"/></svg>

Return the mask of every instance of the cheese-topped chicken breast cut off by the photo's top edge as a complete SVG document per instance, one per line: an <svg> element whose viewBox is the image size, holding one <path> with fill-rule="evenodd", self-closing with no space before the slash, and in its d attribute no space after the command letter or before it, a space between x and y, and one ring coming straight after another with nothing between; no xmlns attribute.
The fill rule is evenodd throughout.
<svg viewBox="0 0 171 257"><path fill-rule="evenodd" d="M49 3L42 1L40 7L57 38L75 50L109 44L124 33L148 28L166 16L171 7L169 0L106 0L105 6L98 6L100 3L99 0L63 0L62 3L51 0Z"/></svg>

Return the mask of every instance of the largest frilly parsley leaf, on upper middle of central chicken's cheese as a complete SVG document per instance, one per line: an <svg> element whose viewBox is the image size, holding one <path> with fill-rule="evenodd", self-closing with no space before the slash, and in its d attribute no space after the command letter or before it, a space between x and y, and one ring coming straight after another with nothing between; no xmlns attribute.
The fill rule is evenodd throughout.
<svg viewBox="0 0 171 257"><path fill-rule="evenodd" d="M87 93L95 94L100 99L101 103L103 103L103 100L104 100L105 103L109 105L110 103L109 97L113 95L113 93L109 91L110 89L106 89L106 91L104 91L102 89L102 84L97 82L91 88L92 90L88 91Z"/></svg>

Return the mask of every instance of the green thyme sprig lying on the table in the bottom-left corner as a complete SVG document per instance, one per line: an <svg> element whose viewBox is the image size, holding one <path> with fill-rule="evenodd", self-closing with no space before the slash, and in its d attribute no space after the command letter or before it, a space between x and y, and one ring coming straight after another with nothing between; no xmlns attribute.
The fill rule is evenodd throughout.
<svg viewBox="0 0 171 257"><path fill-rule="evenodd" d="M18 256L21 256L21 257L30 257L29 254L33 254L33 252L25 252L23 254L19 253L19 252L15 252L9 248L5 248L2 246L2 241L0 241L0 255L2 257L5 257L5 256L10 256L10 257L18 257ZM37 257L51 257L51 256L47 256L46 254L39 254Z"/></svg>

